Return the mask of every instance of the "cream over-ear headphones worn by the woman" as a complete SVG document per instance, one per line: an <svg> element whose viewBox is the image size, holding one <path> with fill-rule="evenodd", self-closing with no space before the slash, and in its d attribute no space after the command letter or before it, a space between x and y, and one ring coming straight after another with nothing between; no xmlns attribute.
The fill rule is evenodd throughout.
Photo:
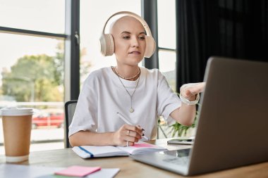
<svg viewBox="0 0 268 178"><path fill-rule="evenodd" d="M145 32L146 32L146 36L145 36L145 43L146 43L145 57L150 58L152 56L152 54L154 53L155 46L156 46L154 38L152 37L151 30L150 30L149 26L147 25L147 23L145 22L145 20L140 17L140 15L137 15L135 13L128 12L128 11L121 11L121 12L118 12L118 13L114 13L113 15L111 15L111 17L108 18L108 20L106 20L106 23L104 24L104 27L103 27L103 30L102 30L102 36L99 38L99 42L101 44L101 53L102 53L102 55L103 56L111 56L114 53L114 37L111 34L104 34L104 30L105 30L105 27L106 27L106 24L108 23L108 21L112 17L114 17L115 15L118 15L118 14L130 15L133 18L136 18L137 20L139 20L140 23L143 25L143 27L145 28Z"/></svg>

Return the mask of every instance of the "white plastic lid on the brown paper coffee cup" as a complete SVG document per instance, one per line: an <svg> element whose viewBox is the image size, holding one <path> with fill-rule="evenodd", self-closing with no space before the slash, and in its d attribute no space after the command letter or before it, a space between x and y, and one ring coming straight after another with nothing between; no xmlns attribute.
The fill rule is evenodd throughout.
<svg viewBox="0 0 268 178"><path fill-rule="evenodd" d="M32 108L2 108L0 110L1 116L17 116L17 115L32 115Z"/></svg>

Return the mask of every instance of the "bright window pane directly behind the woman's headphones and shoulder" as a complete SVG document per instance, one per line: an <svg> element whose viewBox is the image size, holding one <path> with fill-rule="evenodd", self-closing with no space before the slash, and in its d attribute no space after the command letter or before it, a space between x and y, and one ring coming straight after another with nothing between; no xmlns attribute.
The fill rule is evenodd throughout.
<svg viewBox="0 0 268 178"><path fill-rule="evenodd" d="M106 20L118 11L131 11L140 15L140 7L140 0L131 0L128 3L124 0L80 1L80 83L83 83L89 72L116 65L114 55L104 57L99 51L99 37ZM109 31L112 21L113 18L106 25L106 30Z"/></svg>

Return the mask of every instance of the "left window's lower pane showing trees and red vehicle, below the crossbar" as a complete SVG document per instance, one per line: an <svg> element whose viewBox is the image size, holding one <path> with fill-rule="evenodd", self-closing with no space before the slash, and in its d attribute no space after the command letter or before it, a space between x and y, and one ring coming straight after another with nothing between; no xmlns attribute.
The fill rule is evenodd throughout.
<svg viewBox="0 0 268 178"><path fill-rule="evenodd" d="M64 40L7 33L0 39L0 108L35 108L31 141L38 144L30 151L64 148ZM0 154L3 141L0 133Z"/></svg>

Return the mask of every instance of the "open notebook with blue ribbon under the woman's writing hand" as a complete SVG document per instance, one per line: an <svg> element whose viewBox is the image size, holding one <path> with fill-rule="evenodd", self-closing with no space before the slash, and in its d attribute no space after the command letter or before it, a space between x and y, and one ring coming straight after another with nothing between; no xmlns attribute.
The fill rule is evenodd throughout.
<svg viewBox="0 0 268 178"><path fill-rule="evenodd" d="M167 149L162 146L156 146L139 141L133 146L75 146L73 147L73 151L81 158L98 158L167 151Z"/></svg>

